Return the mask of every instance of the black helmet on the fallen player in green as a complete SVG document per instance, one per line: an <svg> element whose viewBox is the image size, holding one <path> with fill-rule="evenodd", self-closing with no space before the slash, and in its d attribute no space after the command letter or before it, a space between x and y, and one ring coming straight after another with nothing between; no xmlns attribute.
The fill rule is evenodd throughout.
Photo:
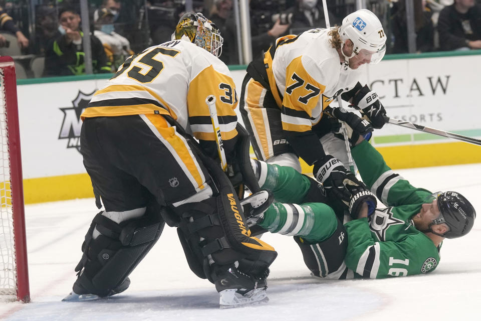
<svg viewBox="0 0 481 321"><path fill-rule="evenodd" d="M434 234L448 239L466 235L471 230L476 218L476 211L474 211L471 203L456 192L433 193L426 200L426 203L431 203L435 199L437 199L437 206L441 213L429 224L428 231L434 233L431 226L444 223L449 227L449 230L443 235Z"/></svg>

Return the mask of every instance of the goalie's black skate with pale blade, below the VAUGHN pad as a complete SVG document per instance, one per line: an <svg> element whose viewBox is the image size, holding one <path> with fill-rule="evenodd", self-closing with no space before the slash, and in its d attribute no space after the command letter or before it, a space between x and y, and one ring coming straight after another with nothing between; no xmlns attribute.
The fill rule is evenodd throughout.
<svg viewBox="0 0 481 321"><path fill-rule="evenodd" d="M262 277L252 277L235 268L217 273L215 288L220 294L220 308L239 307L269 301L267 297L267 270Z"/></svg>

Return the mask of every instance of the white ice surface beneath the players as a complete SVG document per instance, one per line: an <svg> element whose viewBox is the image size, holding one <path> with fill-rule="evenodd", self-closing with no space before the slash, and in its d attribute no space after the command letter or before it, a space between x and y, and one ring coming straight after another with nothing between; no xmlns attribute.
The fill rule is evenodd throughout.
<svg viewBox="0 0 481 321"><path fill-rule="evenodd" d="M431 191L455 190L481 212L481 164L396 171ZM0 302L4 320L468 320L481 302L481 223L446 240L441 262L427 275L325 281L311 277L292 237L266 234L279 256L265 304L219 309L218 294L188 268L175 229L130 275L130 288L108 299L61 302L76 278L80 246L97 209L93 199L26 207L32 302Z"/></svg>

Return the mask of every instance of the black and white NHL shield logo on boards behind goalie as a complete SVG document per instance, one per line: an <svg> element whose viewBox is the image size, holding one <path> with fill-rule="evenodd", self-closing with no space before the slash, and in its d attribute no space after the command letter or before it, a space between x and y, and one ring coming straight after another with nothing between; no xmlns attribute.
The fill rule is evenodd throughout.
<svg viewBox="0 0 481 321"><path fill-rule="evenodd" d="M79 91L77 97L72 100L73 107L60 108L64 113L64 120L60 128L59 139L68 139L67 148L75 147L80 152L80 129L82 128L80 115L87 107L94 93L95 90L90 94L84 94Z"/></svg>

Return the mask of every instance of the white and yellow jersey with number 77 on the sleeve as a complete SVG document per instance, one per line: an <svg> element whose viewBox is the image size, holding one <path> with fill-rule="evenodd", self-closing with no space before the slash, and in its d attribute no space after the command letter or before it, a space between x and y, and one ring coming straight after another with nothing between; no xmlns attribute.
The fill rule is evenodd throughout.
<svg viewBox="0 0 481 321"><path fill-rule="evenodd" d="M310 130L319 122L323 109L343 91L352 89L363 73L364 66L353 70L347 62L341 63L329 42L331 30L312 29L277 41L272 70L283 95L285 130Z"/></svg>

